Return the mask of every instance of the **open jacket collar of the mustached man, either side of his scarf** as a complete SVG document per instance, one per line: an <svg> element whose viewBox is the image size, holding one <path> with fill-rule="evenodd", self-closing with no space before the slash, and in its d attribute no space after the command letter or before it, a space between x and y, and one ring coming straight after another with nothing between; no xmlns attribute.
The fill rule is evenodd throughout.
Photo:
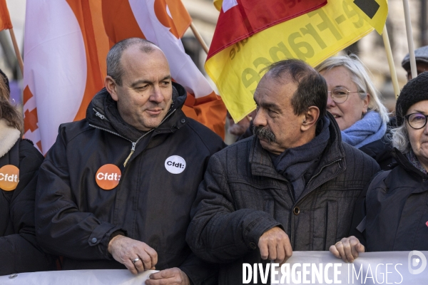
<svg viewBox="0 0 428 285"><path fill-rule="evenodd" d="M310 182L306 185L304 192L300 197L304 197L308 192L314 190L328 180L337 177L340 173L346 170L345 164L345 150L342 146L342 137L340 135L340 128L336 123L335 118L327 112L327 118L330 120L330 140L325 148L315 175L311 178ZM257 176L265 176L275 178L277 180L287 181L285 177L280 175L272 163L269 153L265 150L257 136L254 136L253 143L250 149L249 162L251 164L251 173ZM338 162L339 167L332 167ZM331 167L330 167L331 166ZM330 175L320 176L320 172L328 171Z"/></svg>

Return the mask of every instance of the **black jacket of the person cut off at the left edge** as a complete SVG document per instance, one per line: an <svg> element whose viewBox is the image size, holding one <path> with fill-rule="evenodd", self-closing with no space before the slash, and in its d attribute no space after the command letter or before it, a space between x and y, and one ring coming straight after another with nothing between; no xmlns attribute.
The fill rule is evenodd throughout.
<svg viewBox="0 0 428 285"><path fill-rule="evenodd" d="M0 167L19 168L15 190L0 188L0 275L54 270L54 259L44 254L34 233L34 196L39 166L44 157L29 140L17 140Z"/></svg>

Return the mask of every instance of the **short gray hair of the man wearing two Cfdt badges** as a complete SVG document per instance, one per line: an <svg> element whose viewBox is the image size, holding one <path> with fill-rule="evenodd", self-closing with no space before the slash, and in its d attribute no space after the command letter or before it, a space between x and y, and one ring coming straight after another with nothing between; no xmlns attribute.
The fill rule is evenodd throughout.
<svg viewBox="0 0 428 285"><path fill-rule="evenodd" d="M121 65L123 51L130 46L140 46L144 53L152 53L156 49L156 44L144 38L126 38L116 43L107 54L107 75L116 81L118 86L122 86L122 76L125 73Z"/></svg>

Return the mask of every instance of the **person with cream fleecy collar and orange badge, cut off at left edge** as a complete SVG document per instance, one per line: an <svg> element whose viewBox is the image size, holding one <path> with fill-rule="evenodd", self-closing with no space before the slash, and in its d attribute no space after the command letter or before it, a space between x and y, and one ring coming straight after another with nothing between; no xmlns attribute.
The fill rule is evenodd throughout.
<svg viewBox="0 0 428 285"><path fill-rule="evenodd" d="M44 160L30 140L22 140L21 114L9 102L0 71L0 275L54 270L54 259L36 242L34 196Z"/></svg>

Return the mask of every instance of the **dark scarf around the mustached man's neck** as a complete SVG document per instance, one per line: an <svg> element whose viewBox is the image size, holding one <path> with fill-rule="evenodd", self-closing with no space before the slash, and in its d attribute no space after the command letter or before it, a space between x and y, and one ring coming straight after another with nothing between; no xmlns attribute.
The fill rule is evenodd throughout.
<svg viewBox="0 0 428 285"><path fill-rule="evenodd" d="M275 159L272 158L273 165L277 172L291 182L295 199L300 197L312 170L317 167L322 152L327 147L330 139L330 130L328 129L330 120L327 117L322 118L317 123L316 136L310 142L300 147L294 147L285 150Z"/></svg>

